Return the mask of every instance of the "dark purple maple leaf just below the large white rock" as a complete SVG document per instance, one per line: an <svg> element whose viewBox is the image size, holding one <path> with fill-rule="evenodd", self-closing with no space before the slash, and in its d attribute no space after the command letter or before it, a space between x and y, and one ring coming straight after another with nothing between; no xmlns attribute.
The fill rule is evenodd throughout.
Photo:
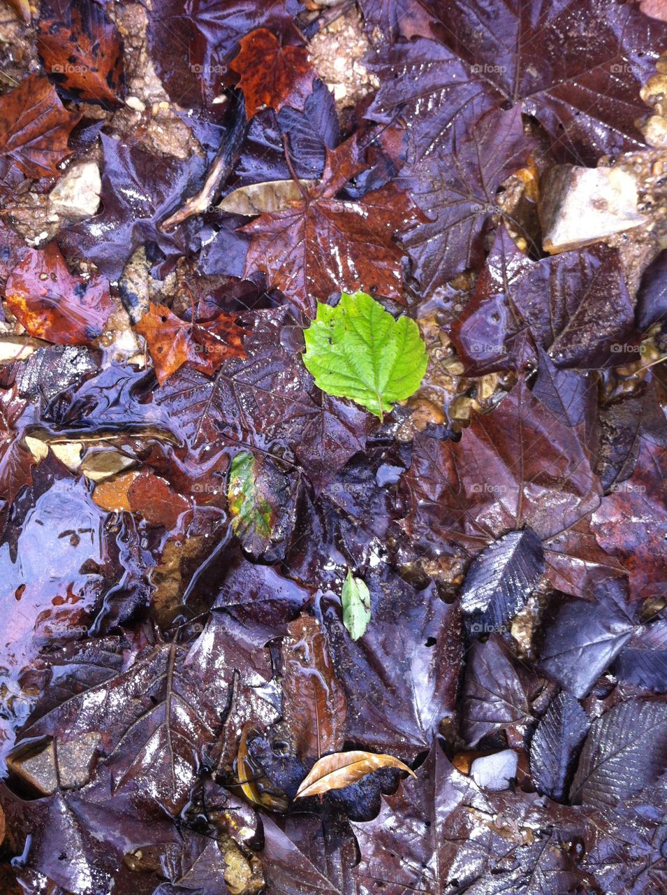
<svg viewBox="0 0 667 895"><path fill-rule="evenodd" d="M516 366L523 329L559 368L597 368L628 356L635 317L618 251L600 244L530 261L502 230L452 339L477 376Z"/></svg>

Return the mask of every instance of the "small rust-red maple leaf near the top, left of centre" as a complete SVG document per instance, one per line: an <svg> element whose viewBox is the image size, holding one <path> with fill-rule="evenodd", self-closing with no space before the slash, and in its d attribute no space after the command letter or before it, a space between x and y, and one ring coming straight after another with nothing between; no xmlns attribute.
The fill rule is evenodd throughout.
<svg viewBox="0 0 667 895"><path fill-rule="evenodd" d="M241 40L241 52L230 68L241 75L239 86L249 119L265 107L303 111L317 77L305 47L281 47L266 28L250 31Z"/></svg>

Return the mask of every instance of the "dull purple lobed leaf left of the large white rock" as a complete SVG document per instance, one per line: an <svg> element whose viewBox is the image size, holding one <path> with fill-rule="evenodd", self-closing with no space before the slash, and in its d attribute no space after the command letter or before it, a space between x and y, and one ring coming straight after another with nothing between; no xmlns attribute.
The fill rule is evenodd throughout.
<svg viewBox="0 0 667 895"><path fill-rule="evenodd" d="M425 158L401 171L401 185L428 217L402 237L426 293L482 262L485 225L502 213L498 187L525 166L533 147L519 107L494 111L455 141L451 154Z"/></svg>

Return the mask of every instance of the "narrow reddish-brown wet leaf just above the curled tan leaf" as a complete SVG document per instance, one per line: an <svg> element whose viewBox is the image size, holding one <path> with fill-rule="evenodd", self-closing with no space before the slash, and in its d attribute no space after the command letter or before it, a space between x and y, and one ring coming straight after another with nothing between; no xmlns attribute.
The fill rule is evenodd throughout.
<svg viewBox="0 0 667 895"><path fill-rule="evenodd" d="M342 748L347 700L335 677L325 632L302 613L283 640L283 716L301 760Z"/></svg>

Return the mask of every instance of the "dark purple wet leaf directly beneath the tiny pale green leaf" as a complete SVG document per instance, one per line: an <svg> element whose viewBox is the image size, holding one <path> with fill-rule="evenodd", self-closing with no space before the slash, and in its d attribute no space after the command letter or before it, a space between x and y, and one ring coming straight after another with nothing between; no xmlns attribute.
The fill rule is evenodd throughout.
<svg viewBox="0 0 667 895"><path fill-rule="evenodd" d="M357 642L342 623L340 601L324 611L334 660L345 669L348 738L410 760L454 711L463 657L460 611L440 600L435 586L416 591L388 569L365 581L371 621Z"/></svg>

